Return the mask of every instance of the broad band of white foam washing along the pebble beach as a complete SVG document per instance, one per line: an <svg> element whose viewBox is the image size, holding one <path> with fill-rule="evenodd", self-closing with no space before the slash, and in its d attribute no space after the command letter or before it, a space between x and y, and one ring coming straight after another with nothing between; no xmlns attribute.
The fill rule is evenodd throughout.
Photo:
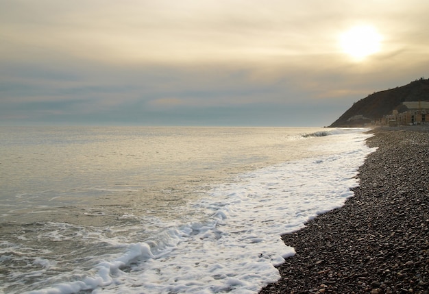
<svg viewBox="0 0 429 294"><path fill-rule="evenodd" d="M373 151L365 138L345 132L324 142L326 156L215 186L189 207L206 219L166 224L150 240L123 244L125 252L99 262L96 273L30 293L258 293L280 278L275 265L295 254L280 235L352 197L357 169Z"/></svg>

